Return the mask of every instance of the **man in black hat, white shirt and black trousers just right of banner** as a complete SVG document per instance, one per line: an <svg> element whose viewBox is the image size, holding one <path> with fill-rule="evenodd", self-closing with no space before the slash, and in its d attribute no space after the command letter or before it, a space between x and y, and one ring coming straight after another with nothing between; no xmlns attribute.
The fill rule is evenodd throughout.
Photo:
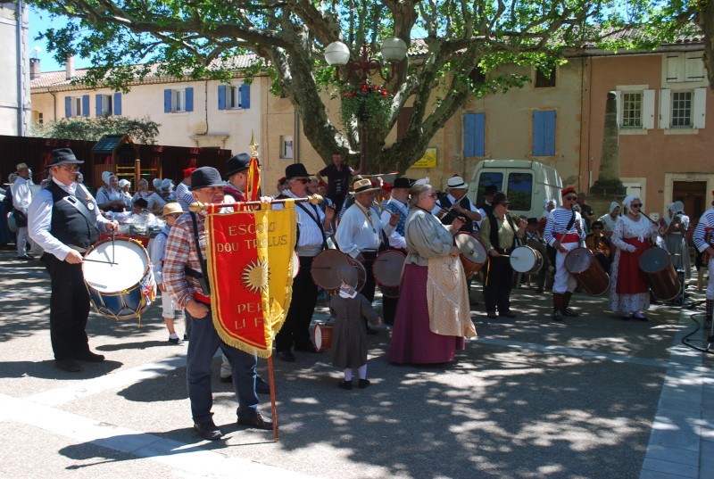
<svg viewBox="0 0 714 479"><path fill-rule="evenodd" d="M285 169L287 188L278 199L306 198L310 174L303 163L288 165ZM300 270L293 280L293 297L287 310L285 324L275 337L275 348L278 358L284 361L295 361L295 351L316 352L310 342L310 323L312 312L318 298L318 287L312 281L312 260L320 252L327 249L328 235L332 235L332 219L335 209L326 208L325 212L314 204L296 202L297 242L295 252L300 258Z"/></svg>

